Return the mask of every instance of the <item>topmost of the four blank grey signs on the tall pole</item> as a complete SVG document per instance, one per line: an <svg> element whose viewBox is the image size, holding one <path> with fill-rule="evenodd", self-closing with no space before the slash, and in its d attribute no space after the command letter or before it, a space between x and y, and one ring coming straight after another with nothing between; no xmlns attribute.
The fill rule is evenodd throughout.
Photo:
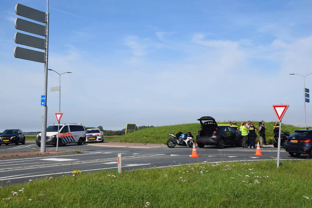
<svg viewBox="0 0 312 208"><path fill-rule="evenodd" d="M15 12L17 15L27 17L32 20L36 20L42 23L46 23L46 13L37 9L26 7L22 4L15 5Z"/></svg>

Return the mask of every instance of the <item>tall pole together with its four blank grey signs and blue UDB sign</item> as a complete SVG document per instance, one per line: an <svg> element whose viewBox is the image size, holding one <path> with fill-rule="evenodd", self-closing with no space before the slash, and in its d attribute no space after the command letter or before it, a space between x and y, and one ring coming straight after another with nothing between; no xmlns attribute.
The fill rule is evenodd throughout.
<svg viewBox="0 0 312 208"><path fill-rule="evenodd" d="M46 151L46 119L47 119L47 106L46 106L46 94L47 94L47 80L48 80L48 42L49 42L49 0L46 0L46 12L33 9L31 7L24 6L22 4L15 5L15 12L17 15L35 20L39 23L45 23L45 25L37 24L32 21L16 18L14 25L17 30L26 31L32 34L44 36L45 39L34 37L32 35L26 35L16 32L14 35L14 41L17 44L34 47L42 51L26 49L22 47L15 47L13 54L15 58L26 59L30 61L36 61L44 63L44 80L43 80L43 94L41 96L42 106L42 120L41 120L41 152Z"/></svg>

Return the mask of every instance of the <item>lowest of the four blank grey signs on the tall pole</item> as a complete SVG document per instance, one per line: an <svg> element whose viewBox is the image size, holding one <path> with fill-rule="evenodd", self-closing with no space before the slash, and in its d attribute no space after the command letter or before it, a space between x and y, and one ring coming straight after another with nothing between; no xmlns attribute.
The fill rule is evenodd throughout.
<svg viewBox="0 0 312 208"><path fill-rule="evenodd" d="M14 48L14 57L44 63L45 53L21 47Z"/></svg>

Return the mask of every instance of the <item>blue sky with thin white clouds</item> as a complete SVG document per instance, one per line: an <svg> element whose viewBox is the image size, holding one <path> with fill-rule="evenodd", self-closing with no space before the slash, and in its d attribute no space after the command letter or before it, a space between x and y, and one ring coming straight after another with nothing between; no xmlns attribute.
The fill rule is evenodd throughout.
<svg viewBox="0 0 312 208"><path fill-rule="evenodd" d="M16 3L46 11L46 1L0 2L0 131L39 131L44 64L13 56ZM288 74L312 72L311 1L51 0L49 6L49 68L73 72L61 79L63 122L117 130L201 116L273 121L271 105L283 103L290 104L283 121L303 124L303 79ZM49 72L48 89L54 86L58 75ZM58 93L48 92L47 103L52 124Z"/></svg>

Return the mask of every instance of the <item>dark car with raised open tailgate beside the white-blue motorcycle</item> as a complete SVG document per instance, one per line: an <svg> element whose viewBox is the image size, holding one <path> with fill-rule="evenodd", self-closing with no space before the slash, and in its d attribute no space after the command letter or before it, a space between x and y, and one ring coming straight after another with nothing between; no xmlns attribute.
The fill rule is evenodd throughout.
<svg viewBox="0 0 312 208"><path fill-rule="evenodd" d="M222 149L225 145L241 146L241 133L233 127L227 125L218 125L211 116L203 116L197 121L201 124L201 130L196 136L196 143L199 148L205 145L217 145Z"/></svg>

